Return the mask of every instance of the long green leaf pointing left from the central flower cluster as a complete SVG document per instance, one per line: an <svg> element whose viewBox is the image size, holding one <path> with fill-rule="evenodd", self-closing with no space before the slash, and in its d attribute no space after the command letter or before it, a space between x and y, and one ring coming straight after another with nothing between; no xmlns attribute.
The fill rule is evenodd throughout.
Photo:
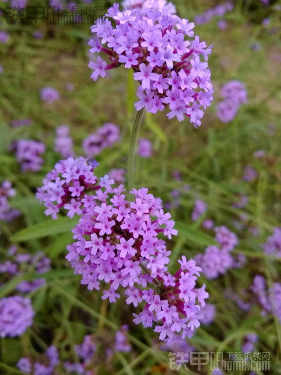
<svg viewBox="0 0 281 375"><path fill-rule="evenodd" d="M12 241L28 241L71 231L77 224L77 219L59 218L27 227L11 237Z"/></svg>

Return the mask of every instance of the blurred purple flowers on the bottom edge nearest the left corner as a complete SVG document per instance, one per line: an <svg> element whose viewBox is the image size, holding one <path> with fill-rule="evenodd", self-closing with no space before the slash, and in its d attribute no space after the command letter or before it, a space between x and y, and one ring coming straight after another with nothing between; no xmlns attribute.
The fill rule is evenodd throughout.
<svg viewBox="0 0 281 375"><path fill-rule="evenodd" d="M41 362L32 363L29 358L21 358L17 363L17 368L26 373L33 375L52 375L54 374L54 368L59 364L59 354L57 348L51 345L47 348L44 355L44 364ZM47 364L48 363L48 364ZM32 367L34 371L32 371Z"/></svg>

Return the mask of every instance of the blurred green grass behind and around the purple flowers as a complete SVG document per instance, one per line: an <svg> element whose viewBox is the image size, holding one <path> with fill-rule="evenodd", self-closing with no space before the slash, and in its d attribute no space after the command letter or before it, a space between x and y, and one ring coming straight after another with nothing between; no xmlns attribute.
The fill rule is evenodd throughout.
<svg viewBox="0 0 281 375"><path fill-rule="evenodd" d="M192 19L219 2L175 3L180 16ZM94 5L108 6L108 2L94 1ZM261 20L268 16L271 24L264 27ZM257 305L242 312L224 295L226 289L238 295L246 291L246 300L250 300L248 290L256 274L265 275L269 283L280 281L280 260L266 256L261 248L281 220L280 11L273 5L262 6L258 0L236 1L234 11L227 13L225 19L226 31L218 29L218 19L195 28L200 39L214 45L209 59L214 103L198 130L188 121L168 120L163 112L146 114L141 137L152 141L153 157L137 159L137 185L149 187L164 202L172 201L174 189L182 191L180 207L171 210L179 229L178 237L169 244L171 272L177 268L180 255L191 258L213 243L213 234L201 227L204 217L191 222L197 198L208 204L205 217L213 219L216 225L228 226L238 235L235 252L247 257L242 269L206 281L209 302L217 308L215 321L211 326L201 326L190 343L196 350L237 352L245 334L255 332L259 335L258 350L271 353L272 374L280 374L281 327L277 320L261 317ZM0 29L10 36L7 45L0 45L0 179L8 179L16 187L17 196L11 200L11 206L22 212L11 224L1 223L0 254L4 258L8 246L16 244L23 252L41 249L52 260L52 270L45 275L47 284L30 293L36 311L34 325L20 338L0 340L0 367L4 374L17 374L15 364L21 356L40 353L50 342L60 348L62 357L75 359L73 345L81 342L86 333L93 333L100 346L96 359L98 374L169 373L167 353L160 350L152 330L132 323L134 311L130 306L122 299L109 306L101 301L99 292L80 286L80 278L73 275L64 259L73 221L61 218L52 222L34 197L36 187L41 186L43 177L59 159L53 151L53 141L55 128L60 124L70 127L77 155L82 153L82 140L104 122L119 125L121 141L98 155L98 174L126 167L137 89L132 73L119 68L104 79L91 81L87 67L88 25L47 25L43 21L38 25L7 25L3 17L0 22ZM41 40L32 37L38 29L44 33ZM260 45L259 51L251 49L254 43ZM223 124L216 117L216 103L220 100L220 87L231 79L245 84L249 102L239 109L234 121ZM65 89L69 82L74 85L73 92ZM40 90L45 86L57 89L61 100L51 105L42 103ZM24 118L30 118L32 125L10 126L12 120ZM270 124L274 124L274 132L269 131ZM9 151L10 142L21 138L44 141L47 145L45 163L39 173L21 173ZM253 156L259 149L266 151L262 160ZM258 171L253 183L242 180L248 164ZM175 170L181 172L182 181L173 178ZM249 203L243 209L234 208L233 203L241 194L249 197ZM241 215L247 216L243 222ZM241 224L239 229L235 222ZM251 227L258 228L258 236L253 236ZM30 270L22 278L29 280L36 278L36 274ZM203 277L201 281L205 281ZM18 282L14 278L4 283L0 297L13 293ZM132 353L117 353L112 363L105 365L102 353L115 330L125 323L130 327Z"/></svg>

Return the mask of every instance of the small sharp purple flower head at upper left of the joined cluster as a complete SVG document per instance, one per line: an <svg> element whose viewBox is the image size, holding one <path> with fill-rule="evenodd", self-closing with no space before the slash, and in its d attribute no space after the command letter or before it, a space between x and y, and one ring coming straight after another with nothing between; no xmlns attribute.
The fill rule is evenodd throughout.
<svg viewBox="0 0 281 375"><path fill-rule="evenodd" d="M94 198L87 193L98 190L100 186L110 188L114 183L105 175L99 180L100 185L97 184L98 179L94 175L97 165L95 161L88 162L83 157L70 157L57 163L36 194L47 207L45 214L56 219L59 210L64 208L68 210L67 216L72 218L75 214L81 215L83 207L92 207Z"/></svg>

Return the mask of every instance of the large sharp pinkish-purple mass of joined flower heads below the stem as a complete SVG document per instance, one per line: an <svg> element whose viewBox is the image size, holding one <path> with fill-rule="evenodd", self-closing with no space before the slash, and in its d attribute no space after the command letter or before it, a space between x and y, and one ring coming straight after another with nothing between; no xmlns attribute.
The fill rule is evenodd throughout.
<svg viewBox="0 0 281 375"><path fill-rule="evenodd" d="M77 181L79 186L73 186ZM49 204L57 199L52 195L58 189L60 207L73 206L73 215L81 215L73 229L75 242L67 247L66 256L75 273L82 275L81 282L89 290L99 290L101 282L109 284L101 298L110 302L120 298L120 287L125 288L127 304L137 307L144 303L142 312L134 314L134 322L144 327L162 322L154 328L161 340L171 343L191 336L199 326L200 309L208 293L205 285L196 287L201 269L194 260L182 257L175 275L167 271L171 252L159 235L170 239L177 234L170 213L164 213L161 199L144 187L133 189L134 199L128 201L122 185L111 187L114 182L108 178L101 178L98 186L96 181L94 169L85 159L69 158L55 166L38 192ZM74 187L84 187L82 199L71 197ZM71 209L69 213L72 216Z"/></svg>

